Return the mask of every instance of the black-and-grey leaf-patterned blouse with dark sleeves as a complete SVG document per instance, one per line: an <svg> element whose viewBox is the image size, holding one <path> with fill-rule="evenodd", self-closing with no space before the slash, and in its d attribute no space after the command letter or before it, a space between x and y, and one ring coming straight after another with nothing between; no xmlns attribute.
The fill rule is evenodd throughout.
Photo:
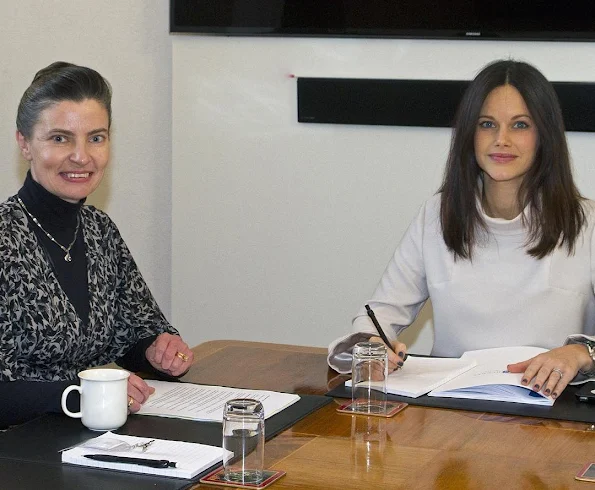
<svg viewBox="0 0 595 490"><path fill-rule="evenodd" d="M25 188L30 176L27 181ZM88 367L114 361L130 370L146 367L144 349L152 340L177 334L111 219L93 206L82 206L80 219L84 320L17 196L0 204L0 428L59 409L67 380Z"/></svg>

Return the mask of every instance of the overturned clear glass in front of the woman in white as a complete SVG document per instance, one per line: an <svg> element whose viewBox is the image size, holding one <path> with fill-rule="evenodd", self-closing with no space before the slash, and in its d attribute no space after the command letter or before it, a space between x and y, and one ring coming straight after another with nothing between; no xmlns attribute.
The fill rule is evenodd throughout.
<svg viewBox="0 0 595 490"><path fill-rule="evenodd" d="M360 342L353 348L351 408L354 412L386 413L388 354L381 342Z"/></svg>

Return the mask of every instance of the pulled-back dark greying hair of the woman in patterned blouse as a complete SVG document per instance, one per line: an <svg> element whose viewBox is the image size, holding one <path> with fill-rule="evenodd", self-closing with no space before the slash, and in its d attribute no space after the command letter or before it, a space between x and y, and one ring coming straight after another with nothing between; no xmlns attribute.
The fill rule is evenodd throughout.
<svg viewBox="0 0 595 490"><path fill-rule="evenodd" d="M82 102L85 99L96 100L105 107L111 125L109 82L92 68L56 61L39 70L25 90L17 110L17 129L25 138L30 138L43 110L65 100Z"/></svg>

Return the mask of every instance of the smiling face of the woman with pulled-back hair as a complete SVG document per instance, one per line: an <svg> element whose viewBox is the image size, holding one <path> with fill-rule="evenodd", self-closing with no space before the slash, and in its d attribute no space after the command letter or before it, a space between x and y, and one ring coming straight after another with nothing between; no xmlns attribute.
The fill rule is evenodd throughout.
<svg viewBox="0 0 595 490"><path fill-rule="evenodd" d="M109 160L109 118L93 99L58 102L43 110L30 138L17 131L33 180L68 202L78 202L101 182Z"/></svg>

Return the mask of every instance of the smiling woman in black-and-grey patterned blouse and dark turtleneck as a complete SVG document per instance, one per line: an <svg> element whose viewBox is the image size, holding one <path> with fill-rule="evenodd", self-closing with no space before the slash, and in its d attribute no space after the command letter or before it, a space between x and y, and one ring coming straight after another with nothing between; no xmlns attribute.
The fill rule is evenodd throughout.
<svg viewBox="0 0 595 490"><path fill-rule="evenodd" d="M88 367L177 377L192 363L116 225L84 205L109 161L110 123L108 82L70 63L40 70L19 104L30 171L0 204L0 428L60 411ZM130 411L150 394L132 374Z"/></svg>

